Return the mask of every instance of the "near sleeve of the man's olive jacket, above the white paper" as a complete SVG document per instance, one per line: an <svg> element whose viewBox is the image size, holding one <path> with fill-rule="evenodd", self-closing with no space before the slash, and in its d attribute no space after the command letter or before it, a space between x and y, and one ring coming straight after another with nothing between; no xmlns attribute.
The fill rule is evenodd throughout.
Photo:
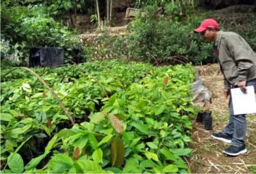
<svg viewBox="0 0 256 174"><path fill-rule="evenodd" d="M238 66L238 81L247 81L249 69L254 66L249 51L239 36L230 36L227 39L228 50Z"/></svg>

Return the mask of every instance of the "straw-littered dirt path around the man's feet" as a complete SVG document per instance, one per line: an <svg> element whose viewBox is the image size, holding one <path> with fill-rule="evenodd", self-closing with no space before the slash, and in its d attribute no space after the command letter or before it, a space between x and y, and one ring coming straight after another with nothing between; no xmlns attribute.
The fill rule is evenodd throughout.
<svg viewBox="0 0 256 174"><path fill-rule="evenodd" d="M216 67L201 75L204 85L212 92L213 130L206 131L200 123L193 122L191 148L194 150L189 169L192 173L256 173L256 115L247 116L247 154L225 156L222 151L229 145L211 138L212 132L222 131L229 118L228 99L222 92L222 76L216 73L218 70L212 70Z"/></svg>

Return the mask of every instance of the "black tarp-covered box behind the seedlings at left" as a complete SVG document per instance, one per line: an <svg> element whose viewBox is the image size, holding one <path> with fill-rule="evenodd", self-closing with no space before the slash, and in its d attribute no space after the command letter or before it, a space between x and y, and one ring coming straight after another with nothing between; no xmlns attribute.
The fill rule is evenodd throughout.
<svg viewBox="0 0 256 174"><path fill-rule="evenodd" d="M31 48L29 54L29 67L51 66L64 64L64 48L45 47Z"/></svg>

